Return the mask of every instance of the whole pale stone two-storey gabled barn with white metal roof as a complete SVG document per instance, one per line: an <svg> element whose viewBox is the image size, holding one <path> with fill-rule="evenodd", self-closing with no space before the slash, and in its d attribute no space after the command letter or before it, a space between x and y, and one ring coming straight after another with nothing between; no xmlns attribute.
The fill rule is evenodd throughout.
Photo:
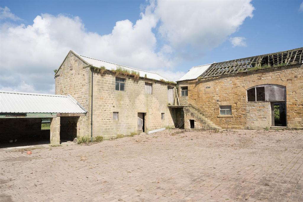
<svg viewBox="0 0 303 202"><path fill-rule="evenodd" d="M56 94L73 96L87 109L77 136L153 132L174 127L176 83L150 71L69 51L55 73Z"/></svg>

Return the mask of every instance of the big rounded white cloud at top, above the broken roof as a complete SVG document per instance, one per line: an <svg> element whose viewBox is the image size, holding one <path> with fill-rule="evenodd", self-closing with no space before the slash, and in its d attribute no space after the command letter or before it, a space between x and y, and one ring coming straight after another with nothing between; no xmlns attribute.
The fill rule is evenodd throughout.
<svg viewBox="0 0 303 202"><path fill-rule="evenodd" d="M246 1L158 1L159 31L174 48L189 47L198 55L215 48L237 31L254 7Z"/></svg>

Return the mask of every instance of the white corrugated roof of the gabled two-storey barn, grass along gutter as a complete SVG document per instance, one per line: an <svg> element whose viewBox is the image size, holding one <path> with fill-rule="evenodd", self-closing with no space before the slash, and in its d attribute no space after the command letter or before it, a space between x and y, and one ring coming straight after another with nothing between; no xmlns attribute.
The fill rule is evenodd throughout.
<svg viewBox="0 0 303 202"><path fill-rule="evenodd" d="M75 54L77 54L77 53L75 53ZM115 63L112 63L112 62L98 60L98 59L95 59L95 58L90 58L90 57L86 57L86 56L79 55L79 54L77 54L77 55L80 58L82 58L82 60L86 61L88 64L90 64L94 67L104 66L107 70L112 70L112 69L117 69L117 67L122 67L122 68L128 69L130 71L132 71L132 70L138 71L140 73L141 77L145 77L145 75L146 75L147 78L156 79L156 80L163 79L164 81L170 81L168 78L165 78L164 76L161 76L161 75L159 75L158 73L155 73L155 72L145 71L145 70L142 70L142 69L136 69L136 68L132 68L132 67L127 67L127 66L124 66L124 65L118 65L118 64L115 64Z"/></svg>

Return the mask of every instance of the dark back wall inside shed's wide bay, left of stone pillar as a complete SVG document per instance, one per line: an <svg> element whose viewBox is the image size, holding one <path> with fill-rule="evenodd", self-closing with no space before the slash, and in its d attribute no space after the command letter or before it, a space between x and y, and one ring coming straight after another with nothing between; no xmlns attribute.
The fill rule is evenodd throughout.
<svg viewBox="0 0 303 202"><path fill-rule="evenodd" d="M41 118L1 118L0 141L48 140L49 130L41 130Z"/></svg>

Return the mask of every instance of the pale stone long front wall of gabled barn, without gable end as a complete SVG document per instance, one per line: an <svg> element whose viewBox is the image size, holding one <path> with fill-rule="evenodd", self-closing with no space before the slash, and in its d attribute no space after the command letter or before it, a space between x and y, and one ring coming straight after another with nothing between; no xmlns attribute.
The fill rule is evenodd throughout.
<svg viewBox="0 0 303 202"><path fill-rule="evenodd" d="M146 131L174 126L172 110L168 109L167 85L152 83L152 94L145 93L145 80L125 78L125 91L115 90L115 75L109 72L93 75L93 136L110 138L117 134L138 131L138 112L146 113ZM119 112L119 120L113 120L113 112ZM161 120L161 113L165 113Z"/></svg>

